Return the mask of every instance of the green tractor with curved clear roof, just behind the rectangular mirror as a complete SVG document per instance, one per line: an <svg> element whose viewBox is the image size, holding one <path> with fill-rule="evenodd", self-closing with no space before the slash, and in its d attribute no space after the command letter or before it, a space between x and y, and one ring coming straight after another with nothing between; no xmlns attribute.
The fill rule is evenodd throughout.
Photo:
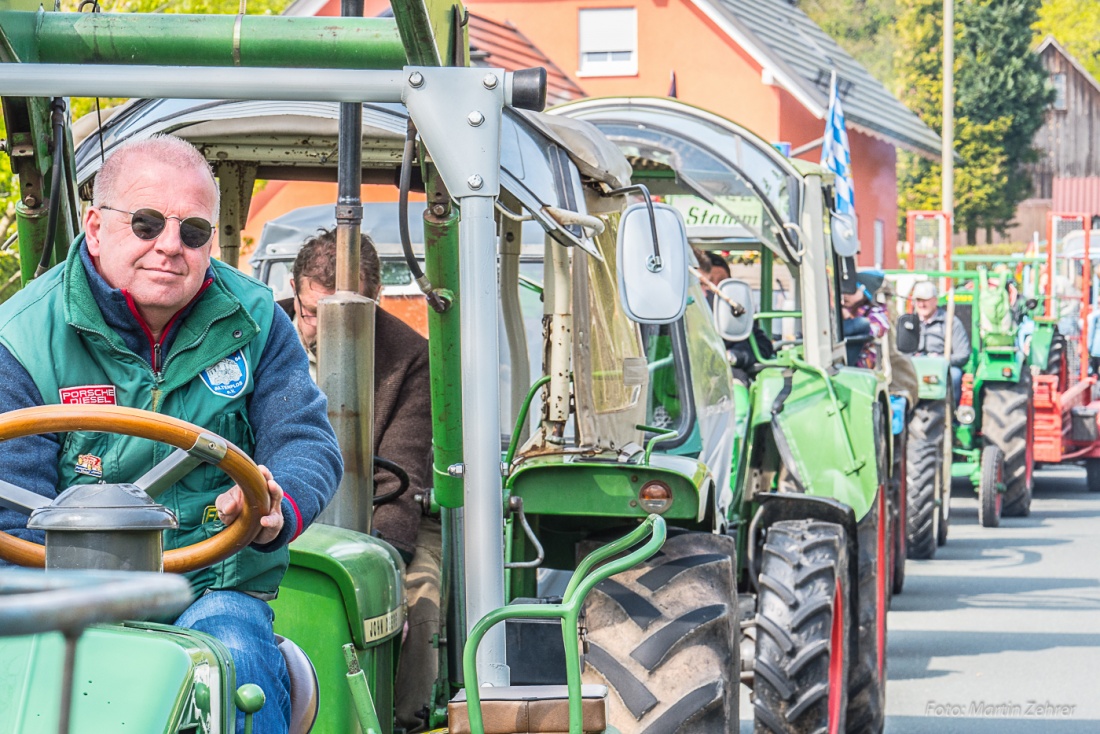
<svg viewBox="0 0 1100 734"><path fill-rule="evenodd" d="M647 419L672 421L667 437L667 429L648 434L662 441L657 447L707 456L707 425L732 397L733 421L719 434L733 442L730 469L726 475L707 461L714 504L696 508L694 527L733 537L738 547L743 680L754 689L757 731L882 731L890 406L881 374L844 364L839 278L854 252L829 234L831 219L843 224L831 211L831 174L675 100L594 99L556 111L613 140L635 180L681 211L695 248L743 263L717 285L716 333L707 296L693 285L695 304L668 335L669 348L649 342ZM738 355L732 391L723 376L727 348ZM553 522L559 532L581 527ZM644 566L590 602L590 618L618 621L606 631L590 627L590 649L634 658L609 665L614 654L592 656L592 680L638 711L645 706L631 693L649 680L634 650L649 646L659 604L647 580L657 574Z"/></svg>

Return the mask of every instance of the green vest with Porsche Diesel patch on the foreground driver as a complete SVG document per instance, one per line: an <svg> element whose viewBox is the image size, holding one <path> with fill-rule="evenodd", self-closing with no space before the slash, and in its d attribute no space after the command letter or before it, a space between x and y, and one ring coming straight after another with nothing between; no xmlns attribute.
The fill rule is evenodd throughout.
<svg viewBox="0 0 1100 734"><path fill-rule="evenodd" d="M212 261L213 283L184 319L155 374L107 326L80 259L77 238L63 265L0 307L0 343L28 371L46 404L114 402L164 413L210 430L251 454L255 447L248 396L271 331L271 289ZM174 449L113 434L64 434L58 492L77 483L133 482ZM179 521L166 530L166 549L182 548L222 529L215 497L233 482L201 465L157 497ZM196 595L208 589L272 594L286 570L286 548L245 548L208 569L188 573Z"/></svg>

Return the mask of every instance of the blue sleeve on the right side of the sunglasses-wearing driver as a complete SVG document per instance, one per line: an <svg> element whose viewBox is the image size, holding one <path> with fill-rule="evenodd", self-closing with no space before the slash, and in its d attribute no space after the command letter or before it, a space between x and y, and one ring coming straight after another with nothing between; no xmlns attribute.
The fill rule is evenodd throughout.
<svg viewBox="0 0 1100 734"><path fill-rule="evenodd" d="M286 493L283 529L257 550L282 548L309 527L336 494L343 459L329 424L328 401L309 376L309 360L289 317L277 305L255 372L249 420L253 459Z"/></svg>

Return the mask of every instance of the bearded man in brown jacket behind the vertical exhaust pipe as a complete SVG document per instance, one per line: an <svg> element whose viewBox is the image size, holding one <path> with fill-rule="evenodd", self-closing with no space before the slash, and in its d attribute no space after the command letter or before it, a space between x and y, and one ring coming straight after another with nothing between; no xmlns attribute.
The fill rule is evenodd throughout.
<svg viewBox="0 0 1100 734"><path fill-rule="evenodd" d="M377 300L382 293L382 265L366 234L360 242L360 295ZM279 304L294 314L301 343L309 352L316 379L317 303L336 293L337 238L322 231L298 251L292 271L294 298ZM374 511L374 529L394 546L407 566L405 587L408 633L397 669L397 722L410 732L427 723L421 709L429 705L439 670L432 636L440 631L440 569L442 533L439 521L422 517L416 495L431 478L431 382L428 341L382 308L374 317L374 454L398 464L409 475L409 487ZM398 479L375 467L375 496L394 492Z"/></svg>

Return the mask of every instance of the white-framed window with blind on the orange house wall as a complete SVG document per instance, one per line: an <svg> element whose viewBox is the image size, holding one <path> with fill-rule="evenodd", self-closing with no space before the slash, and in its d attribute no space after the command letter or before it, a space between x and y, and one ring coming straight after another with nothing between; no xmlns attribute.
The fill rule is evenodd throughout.
<svg viewBox="0 0 1100 734"><path fill-rule="evenodd" d="M637 76L637 8L580 8L576 37L576 76Z"/></svg>

